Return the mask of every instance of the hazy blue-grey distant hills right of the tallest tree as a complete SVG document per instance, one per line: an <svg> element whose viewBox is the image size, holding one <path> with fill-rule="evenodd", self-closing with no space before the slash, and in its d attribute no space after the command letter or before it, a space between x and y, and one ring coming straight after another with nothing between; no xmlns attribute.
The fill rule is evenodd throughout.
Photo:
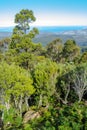
<svg viewBox="0 0 87 130"><path fill-rule="evenodd" d="M61 38L63 42L67 39L74 39L80 46L87 46L87 29L64 31L61 33L40 33L33 41L42 43L44 46L56 38Z"/></svg>

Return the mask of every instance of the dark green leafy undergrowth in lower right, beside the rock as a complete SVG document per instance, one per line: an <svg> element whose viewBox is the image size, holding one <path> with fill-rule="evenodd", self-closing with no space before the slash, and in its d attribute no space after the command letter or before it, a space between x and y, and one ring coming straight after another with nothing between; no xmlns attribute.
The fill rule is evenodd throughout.
<svg viewBox="0 0 87 130"><path fill-rule="evenodd" d="M86 129L87 126L87 106L83 103L63 105L44 110L39 119L29 122L33 130L79 130Z"/></svg>

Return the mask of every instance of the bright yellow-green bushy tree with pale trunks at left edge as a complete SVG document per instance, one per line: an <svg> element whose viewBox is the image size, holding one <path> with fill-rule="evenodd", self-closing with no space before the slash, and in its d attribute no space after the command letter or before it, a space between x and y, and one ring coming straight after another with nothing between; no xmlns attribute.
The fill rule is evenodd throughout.
<svg viewBox="0 0 87 130"><path fill-rule="evenodd" d="M15 64L8 65L2 62L0 64L1 105L7 110L14 105L21 114L24 102L27 108L28 98L35 91L32 83L29 72Z"/></svg>

